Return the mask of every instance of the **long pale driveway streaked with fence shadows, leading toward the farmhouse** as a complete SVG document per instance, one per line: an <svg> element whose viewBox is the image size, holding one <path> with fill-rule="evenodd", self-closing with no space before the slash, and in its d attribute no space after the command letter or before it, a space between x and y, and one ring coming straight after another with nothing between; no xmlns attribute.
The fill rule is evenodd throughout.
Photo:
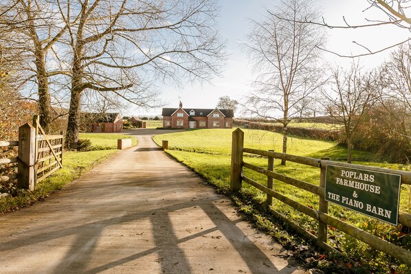
<svg viewBox="0 0 411 274"><path fill-rule="evenodd" d="M304 273L140 133L139 146L1 216L0 273Z"/></svg>

